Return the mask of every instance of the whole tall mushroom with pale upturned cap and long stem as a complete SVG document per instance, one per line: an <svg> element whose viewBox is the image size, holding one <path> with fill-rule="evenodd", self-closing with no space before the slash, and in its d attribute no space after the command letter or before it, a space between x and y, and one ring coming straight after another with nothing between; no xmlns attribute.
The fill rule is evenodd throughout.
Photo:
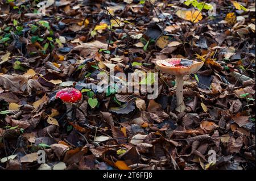
<svg viewBox="0 0 256 181"><path fill-rule="evenodd" d="M184 58L168 58L166 60L156 61L156 65L165 73L176 76L176 98L177 112L185 110L183 101L183 77L196 73L204 65L204 62L196 62Z"/></svg>

